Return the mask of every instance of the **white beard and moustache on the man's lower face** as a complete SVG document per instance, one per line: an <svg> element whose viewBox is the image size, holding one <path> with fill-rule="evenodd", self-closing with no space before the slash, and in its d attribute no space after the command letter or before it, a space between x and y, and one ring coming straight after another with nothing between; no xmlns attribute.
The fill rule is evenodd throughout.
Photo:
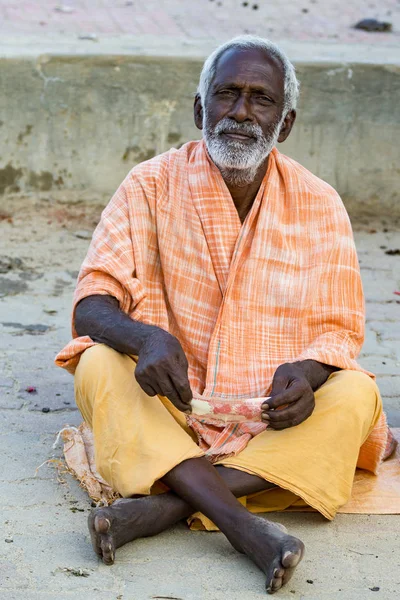
<svg viewBox="0 0 400 600"><path fill-rule="evenodd" d="M207 117L207 111L204 110L203 137L212 161L227 183L239 187L249 185L276 145L285 116L271 126L267 137L259 125L238 123L228 117L221 119L212 129ZM248 145L240 140L225 140L221 134L226 130L250 135L254 137L254 143Z"/></svg>

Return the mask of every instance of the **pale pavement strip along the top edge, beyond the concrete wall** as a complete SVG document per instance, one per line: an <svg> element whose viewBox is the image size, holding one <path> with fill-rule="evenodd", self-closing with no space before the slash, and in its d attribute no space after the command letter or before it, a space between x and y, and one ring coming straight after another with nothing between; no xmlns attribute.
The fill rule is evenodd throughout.
<svg viewBox="0 0 400 600"><path fill-rule="evenodd" d="M364 18L393 23L393 33L352 29ZM0 35L61 37L120 34L190 39L254 33L272 39L398 45L398 0L0 0Z"/></svg>

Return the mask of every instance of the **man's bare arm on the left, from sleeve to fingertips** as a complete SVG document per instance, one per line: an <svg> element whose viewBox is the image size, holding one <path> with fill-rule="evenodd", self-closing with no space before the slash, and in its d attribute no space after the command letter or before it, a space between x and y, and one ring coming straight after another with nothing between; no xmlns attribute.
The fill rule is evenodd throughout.
<svg viewBox="0 0 400 600"><path fill-rule="evenodd" d="M149 396L166 396L181 411L190 412L192 392L188 362L176 337L160 327L134 321L112 296L94 295L75 309L80 336L106 344L123 354L138 356L135 377Z"/></svg>

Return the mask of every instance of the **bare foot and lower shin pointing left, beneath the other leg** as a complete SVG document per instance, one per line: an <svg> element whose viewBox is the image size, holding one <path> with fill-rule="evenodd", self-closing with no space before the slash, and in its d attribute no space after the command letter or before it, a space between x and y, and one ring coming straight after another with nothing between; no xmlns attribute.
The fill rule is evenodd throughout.
<svg viewBox="0 0 400 600"><path fill-rule="evenodd" d="M164 531L192 509L173 494L124 498L95 508L88 519L93 549L104 564L112 565L115 551L128 542Z"/></svg>

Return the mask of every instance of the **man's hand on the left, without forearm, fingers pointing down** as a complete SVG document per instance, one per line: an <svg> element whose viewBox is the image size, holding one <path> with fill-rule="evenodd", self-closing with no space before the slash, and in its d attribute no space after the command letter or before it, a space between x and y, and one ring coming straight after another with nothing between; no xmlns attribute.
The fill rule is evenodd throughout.
<svg viewBox="0 0 400 600"><path fill-rule="evenodd" d="M163 329L143 342L135 377L148 396L166 396L182 412L191 412L188 361L179 341Z"/></svg>

